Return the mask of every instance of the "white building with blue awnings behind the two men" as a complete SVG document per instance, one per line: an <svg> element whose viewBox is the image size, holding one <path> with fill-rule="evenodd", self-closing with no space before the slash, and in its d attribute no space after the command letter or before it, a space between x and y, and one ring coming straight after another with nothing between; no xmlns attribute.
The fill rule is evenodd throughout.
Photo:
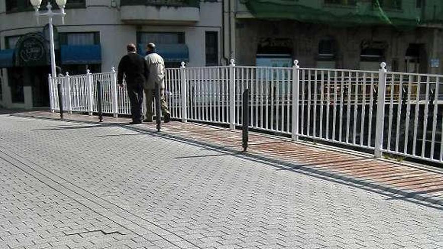
<svg viewBox="0 0 443 249"><path fill-rule="evenodd" d="M49 106L48 20L37 24L29 2L0 0L0 106ZM56 62L71 75L108 72L128 43L144 50L154 42L167 67L226 64L222 16L221 1L68 0L65 25L54 19Z"/></svg>

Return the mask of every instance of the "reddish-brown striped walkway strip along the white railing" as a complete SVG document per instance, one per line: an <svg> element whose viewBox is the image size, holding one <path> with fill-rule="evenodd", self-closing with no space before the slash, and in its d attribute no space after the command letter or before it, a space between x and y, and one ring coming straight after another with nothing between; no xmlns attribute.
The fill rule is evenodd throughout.
<svg viewBox="0 0 443 249"><path fill-rule="evenodd" d="M50 112L29 112L24 116L57 119ZM97 117L71 114L67 120L97 122ZM127 123L126 118L105 117L104 123ZM231 153L240 153L241 131L230 131L198 123L171 122L162 124L162 134L188 139L199 144L216 146ZM133 129L150 130L155 123L133 126ZM244 155L260 160L283 162L287 170L297 169L313 174L336 178L372 189L388 191L403 199L420 200L443 205L443 170L421 165L374 159L371 155L355 154L337 148L326 148L303 142L293 143L281 137L251 133L248 152Z"/></svg>

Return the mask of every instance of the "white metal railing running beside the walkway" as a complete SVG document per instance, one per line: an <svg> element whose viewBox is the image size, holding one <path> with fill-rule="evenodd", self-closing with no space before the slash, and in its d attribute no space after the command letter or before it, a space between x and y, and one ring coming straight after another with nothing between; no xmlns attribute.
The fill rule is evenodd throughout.
<svg viewBox="0 0 443 249"><path fill-rule="evenodd" d="M242 93L250 90L250 127L443 162L443 75L293 67L229 66L168 68L165 98L171 117L242 125ZM51 110L130 114L126 87L116 72L50 77ZM125 86L125 85L124 85ZM143 111L145 106L143 105Z"/></svg>

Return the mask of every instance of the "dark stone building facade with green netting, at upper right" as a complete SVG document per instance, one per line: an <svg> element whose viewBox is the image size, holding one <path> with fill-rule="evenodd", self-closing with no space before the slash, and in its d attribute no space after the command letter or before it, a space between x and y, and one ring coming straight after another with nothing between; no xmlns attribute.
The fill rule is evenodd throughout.
<svg viewBox="0 0 443 249"><path fill-rule="evenodd" d="M238 64L443 73L440 0L225 0Z"/></svg>

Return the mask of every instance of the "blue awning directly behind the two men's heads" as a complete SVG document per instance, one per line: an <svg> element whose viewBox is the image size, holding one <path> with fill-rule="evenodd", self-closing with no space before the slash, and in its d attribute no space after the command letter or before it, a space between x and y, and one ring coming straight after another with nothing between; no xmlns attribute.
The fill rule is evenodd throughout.
<svg viewBox="0 0 443 249"><path fill-rule="evenodd" d="M145 55L146 45L138 44L138 53ZM189 49L186 44L156 44L156 51L165 62L189 62Z"/></svg>

